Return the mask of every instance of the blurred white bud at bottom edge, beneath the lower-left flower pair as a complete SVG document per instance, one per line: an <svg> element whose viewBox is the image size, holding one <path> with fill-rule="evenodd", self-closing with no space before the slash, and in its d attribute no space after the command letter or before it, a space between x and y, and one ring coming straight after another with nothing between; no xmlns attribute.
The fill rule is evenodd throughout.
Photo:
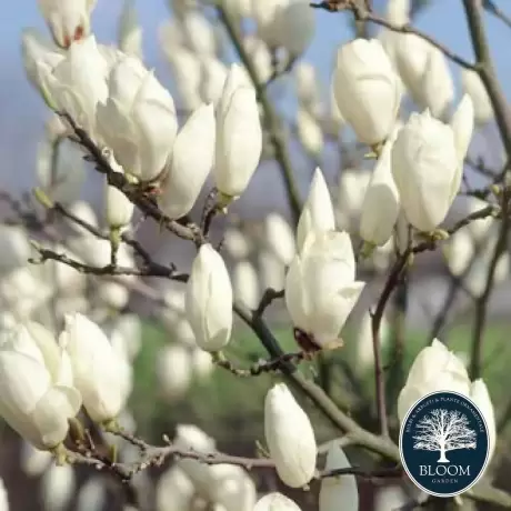
<svg viewBox="0 0 511 511"><path fill-rule="evenodd" d="M41 499L44 511L63 511L74 493L74 469L70 464L51 464L41 481Z"/></svg>

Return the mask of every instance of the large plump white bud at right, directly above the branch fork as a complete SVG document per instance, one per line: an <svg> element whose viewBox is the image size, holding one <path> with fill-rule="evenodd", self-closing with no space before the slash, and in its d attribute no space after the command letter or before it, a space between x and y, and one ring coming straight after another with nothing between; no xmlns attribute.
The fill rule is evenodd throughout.
<svg viewBox="0 0 511 511"><path fill-rule="evenodd" d="M423 113L412 113L392 147L392 174L408 221L432 231L445 218L461 184L451 127Z"/></svg>

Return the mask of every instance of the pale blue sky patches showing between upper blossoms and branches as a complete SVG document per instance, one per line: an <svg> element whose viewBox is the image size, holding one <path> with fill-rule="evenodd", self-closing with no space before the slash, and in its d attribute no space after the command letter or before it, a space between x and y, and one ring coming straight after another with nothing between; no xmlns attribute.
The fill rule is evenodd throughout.
<svg viewBox="0 0 511 511"><path fill-rule="evenodd" d="M262 0L260 0L262 1ZM511 14L510 0L497 0L501 8ZM98 0L93 13L92 27L101 42L113 42L117 22L122 9L122 0ZM384 0L375 0L377 9L382 9ZM20 59L20 33L26 27L37 27L46 31L39 14L36 0L8 2L8 11L3 10L4 20L0 31L0 58L2 78L0 80L0 187L12 186L13 169L27 168L33 162L37 137L41 133L44 119L44 107L37 93L24 79ZM169 17L164 0L138 0L136 2L144 30L144 56L148 67L154 67L163 82L170 76L158 49L158 26ZM313 62L323 80L328 80L337 47L350 38L347 29L348 14L333 14L315 11L317 36L304 59ZM511 79L511 30L494 17L485 16L490 44L494 57L499 78L507 86ZM432 0L417 19L417 26L448 44L453 51L467 59L472 59L472 49L464 21L461 0ZM459 82L459 70L452 67L454 79ZM504 87L508 98L511 87ZM27 179L17 179L20 186L27 186L32 174L27 170ZM16 174L20 174L17 170Z"/></svg>

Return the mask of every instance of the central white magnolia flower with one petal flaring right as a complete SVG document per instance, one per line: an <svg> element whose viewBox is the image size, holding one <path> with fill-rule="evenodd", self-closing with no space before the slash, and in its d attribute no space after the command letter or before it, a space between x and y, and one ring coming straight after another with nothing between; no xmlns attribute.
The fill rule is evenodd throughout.
<svg viewBox="0 0 511 511"><path fill-rule="evenodd" d="M364 282L355 281L347 232L312 232L285 277L285 305L293 325L321 347L339 344L339 333Z"/></svg>

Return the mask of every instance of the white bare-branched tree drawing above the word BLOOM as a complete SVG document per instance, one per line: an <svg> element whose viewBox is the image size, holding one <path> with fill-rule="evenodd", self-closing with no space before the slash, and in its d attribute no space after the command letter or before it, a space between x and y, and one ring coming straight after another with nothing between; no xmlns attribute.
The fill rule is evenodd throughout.
<svg viewBox="0 0 511 511"><path fill-rule="evenodd" d="M469 428L469 419L458 411L432 410L415 427L413 449L440 451L439 463L448 463L445 452L475 449L477 433Z"/></svg>

